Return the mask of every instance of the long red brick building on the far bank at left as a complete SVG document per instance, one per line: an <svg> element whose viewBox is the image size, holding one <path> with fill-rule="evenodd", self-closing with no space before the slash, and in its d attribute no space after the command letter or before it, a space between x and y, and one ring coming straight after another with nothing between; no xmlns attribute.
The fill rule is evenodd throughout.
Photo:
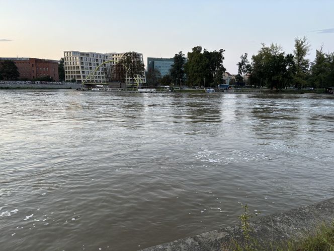
<svg viewBox="0 0 334 251"><path fill-rule="evenodd" d="M52 77L59 81L59 61L33 57L0 57L0 61L12 60L18 68L20 79L34 80L40 77Z"/></svg>

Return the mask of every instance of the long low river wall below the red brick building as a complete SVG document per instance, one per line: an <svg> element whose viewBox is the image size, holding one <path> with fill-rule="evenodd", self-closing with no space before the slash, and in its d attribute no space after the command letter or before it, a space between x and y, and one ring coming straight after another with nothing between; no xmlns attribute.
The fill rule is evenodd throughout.
<svg viewBox="0 0 334 251"><path fill-rule="evenodd" d="M0 89L77 89L81 84L45 81L0 81Z"/></svg>

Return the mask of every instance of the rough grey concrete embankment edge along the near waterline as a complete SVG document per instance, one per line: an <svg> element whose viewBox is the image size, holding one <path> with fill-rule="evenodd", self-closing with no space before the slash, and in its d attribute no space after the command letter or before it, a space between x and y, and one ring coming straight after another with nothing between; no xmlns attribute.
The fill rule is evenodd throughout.
<svg viewBox="0 0 334 251"><path fill-rule="evenodd" d="M334 198L287 212L259 217L251 221L252 237L264 250L272 250L282 242L298 240L313 234L321 223L330 224L334 219ZM142 250L233 250L233 241L243 243L240 226L231 226L193 237L159 244ZM275 249L275 248L273 248Z"/></svg>

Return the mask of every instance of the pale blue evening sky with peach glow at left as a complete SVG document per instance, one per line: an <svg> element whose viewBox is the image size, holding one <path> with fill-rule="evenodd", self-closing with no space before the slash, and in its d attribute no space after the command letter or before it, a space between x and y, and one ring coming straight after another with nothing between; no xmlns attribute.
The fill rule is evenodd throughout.
<svg viewBox="0 0 334 251"><path fill-rule="evenodd" d="M0 0L0 57L57 59L65 50L187 55L194 46L224 49L224 67L237 73L261 43L293 53L306 36L316 49L334 52L334 1L246 0Z"/></svg>

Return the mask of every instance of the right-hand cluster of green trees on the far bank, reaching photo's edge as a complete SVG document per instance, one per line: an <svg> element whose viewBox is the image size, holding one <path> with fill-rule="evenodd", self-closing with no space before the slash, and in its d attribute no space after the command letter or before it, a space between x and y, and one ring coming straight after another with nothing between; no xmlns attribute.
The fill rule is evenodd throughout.
<svg viewBox="0 0 334 251"><path fill-rule="evenodd" d="M321 45L310 61L306 58L311 47L307 38L296 38L294 42L293 53L286 54L278 44L262 43L251 62L247 60L247 53L241 55L237 81L277 90L334 86L334 52L325 53Z"/></svg>

